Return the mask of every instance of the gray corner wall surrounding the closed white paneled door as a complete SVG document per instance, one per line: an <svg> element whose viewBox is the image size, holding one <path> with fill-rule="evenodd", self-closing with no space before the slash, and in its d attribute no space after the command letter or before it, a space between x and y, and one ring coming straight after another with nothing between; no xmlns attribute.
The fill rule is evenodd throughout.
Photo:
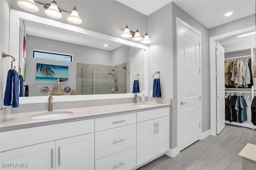
<svg viewBox="0 0 256 170"><path fill-rule="evenodd" d="M202 40L202 132L210 129L210 61L208 29L188 15L173 2L148 16L149 89L152 90L152 75L160 71L162 97L172 98L170 114L170 148L177 146L177 71L176 71L176 17L184 20L201 32Z"/></svg>

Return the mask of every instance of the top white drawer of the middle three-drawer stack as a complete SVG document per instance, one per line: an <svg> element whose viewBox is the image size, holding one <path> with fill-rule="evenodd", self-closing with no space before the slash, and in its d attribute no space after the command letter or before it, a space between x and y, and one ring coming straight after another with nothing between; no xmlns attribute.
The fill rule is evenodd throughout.
<svg viewBox="0 0 256 170"><path fill-rule="evenodd" d="M95 132L136 123L136 113L95 119Z"/></svg>

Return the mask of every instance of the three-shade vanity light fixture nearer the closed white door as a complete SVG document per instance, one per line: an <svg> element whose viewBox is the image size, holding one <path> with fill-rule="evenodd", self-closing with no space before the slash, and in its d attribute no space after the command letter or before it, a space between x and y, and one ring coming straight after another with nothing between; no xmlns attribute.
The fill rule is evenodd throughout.
<svg viewBox="0 0 256 170"><path fill-rule="evenodd" d="M138 29L136 30L136 32L130 31L128 25L126 25L125 29L120 30L124 31L121 35L122 38L132 38L132 40L134 41L141 41L144 38L142 40L142 43L151 43L148 37L148 33L146 33L145 36L140 36L140 32L138 31Z"/></svg>

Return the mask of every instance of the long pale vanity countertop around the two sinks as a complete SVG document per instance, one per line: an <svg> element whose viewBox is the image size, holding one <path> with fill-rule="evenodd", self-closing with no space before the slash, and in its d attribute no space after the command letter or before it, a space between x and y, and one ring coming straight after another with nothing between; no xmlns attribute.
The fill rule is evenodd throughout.
<svg viewBox="0 0 256 170"><path fill-rule="evenodd" d="M53 119L30 119L32 115L48 112L37 111L37 112L23 112L23 113L11 113L7 119L4 119L0 123L0 132L17 130L22 128L31 128L44 125L52 125L56 123L65 123L70 121L79 121L84 119L93 119L96 117L104 117L113 114L122 114L143 111L147 109L157 109L161 107L168 107L170 103L137 103L137 104L148 104L148 106L136 106L134 103L125 103L118 105L103 105L94 107L80 107L73 109L53 109L53 111L70 111L72 115L58 117ZM49 112L50 113L50 112Z"/></svg>

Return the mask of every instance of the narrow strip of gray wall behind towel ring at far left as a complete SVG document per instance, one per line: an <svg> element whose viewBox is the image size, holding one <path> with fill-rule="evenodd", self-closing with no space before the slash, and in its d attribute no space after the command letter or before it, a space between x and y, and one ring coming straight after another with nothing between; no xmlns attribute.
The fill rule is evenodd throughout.
<svg viewBox="0 0 256 170"><path fill-rule="evenodd" d="M0 52L9 53L9 18L10 0L0 0ZM2 54L1 54L2 55ZM7 72L10 69L10 57L0 57L0 108L4 103L4 91L6 86Z"/></svg>

